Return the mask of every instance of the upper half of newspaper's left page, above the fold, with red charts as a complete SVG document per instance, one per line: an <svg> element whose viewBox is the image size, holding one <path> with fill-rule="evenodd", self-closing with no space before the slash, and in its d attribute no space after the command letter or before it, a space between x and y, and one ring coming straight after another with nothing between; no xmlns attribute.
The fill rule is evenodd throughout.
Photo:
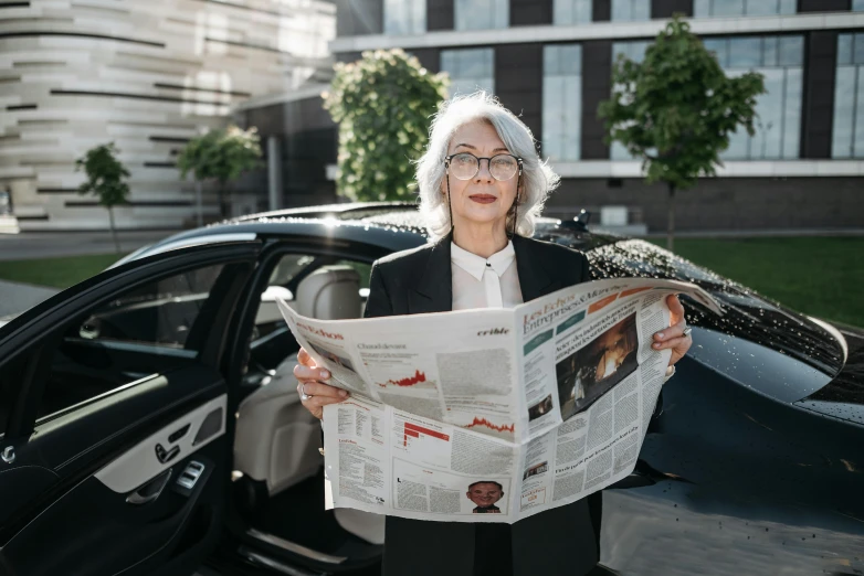
<svg viewBox="0 0 864 576"><path fill-rule="evenodd" d="M515 441L518 360L510 310L315 320L277 302L330 384L430 420Z"/></svg>

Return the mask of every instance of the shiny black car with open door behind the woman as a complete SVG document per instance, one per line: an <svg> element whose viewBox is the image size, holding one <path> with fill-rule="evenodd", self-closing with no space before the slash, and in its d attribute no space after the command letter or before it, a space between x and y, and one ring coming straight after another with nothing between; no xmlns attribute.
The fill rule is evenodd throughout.
<svg viewBox="0 0 864 576"><path fill-rule="evenodd" d="M0 328L0 573L376 574L380 516L324 510L274 298L359 317L371 263L426 242L418 223L389 203L236 218ZM726 309L684 302L691 353L634 472L592 499L596 572L862 574L864 332L578 221L536 236L594 278L692 281Z"/></svg>

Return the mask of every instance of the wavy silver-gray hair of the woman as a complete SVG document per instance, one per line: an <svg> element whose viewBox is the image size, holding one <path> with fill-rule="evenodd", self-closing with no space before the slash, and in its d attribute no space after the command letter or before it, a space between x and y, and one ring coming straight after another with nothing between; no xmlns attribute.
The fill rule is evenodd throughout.
<svg viewBox="0 0 864 576"><path fill-rule="evenodd" d="M420 213L432 239L445 236L451 230L447 201L441 193L446 175L444 158L453 134L466 124L488 122L498 132L504 146L523 159L521 193L516 214L516 233L531 236L537 217L547 198L558 186L560 178L547 162L541 162L534 146L530 129L497 98L485 92L456 96L445 102L432 119L426 152L417 162L417 182L420 192ZM513 227L513 212L507 214L507 230Z"/></svg>

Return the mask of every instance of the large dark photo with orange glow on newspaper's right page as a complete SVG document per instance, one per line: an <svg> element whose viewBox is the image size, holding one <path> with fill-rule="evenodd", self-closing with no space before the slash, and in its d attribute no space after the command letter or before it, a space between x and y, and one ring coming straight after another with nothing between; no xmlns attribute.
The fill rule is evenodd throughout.
<svg viewBox="0 0 864 576"><path fill-rule="evenodd" d="M639 366L636 313L556 364L561 418L586 409Z"/></svg>

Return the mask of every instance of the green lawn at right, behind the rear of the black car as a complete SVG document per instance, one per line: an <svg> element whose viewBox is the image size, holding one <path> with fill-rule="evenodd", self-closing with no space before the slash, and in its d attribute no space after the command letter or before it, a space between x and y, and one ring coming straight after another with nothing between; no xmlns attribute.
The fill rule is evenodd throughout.
<svg viewBox="0 0 864 576"><path fill-rule="evenodd" d="M793 310L864 327L864 237L675 238L675 252Z"/></svg>

